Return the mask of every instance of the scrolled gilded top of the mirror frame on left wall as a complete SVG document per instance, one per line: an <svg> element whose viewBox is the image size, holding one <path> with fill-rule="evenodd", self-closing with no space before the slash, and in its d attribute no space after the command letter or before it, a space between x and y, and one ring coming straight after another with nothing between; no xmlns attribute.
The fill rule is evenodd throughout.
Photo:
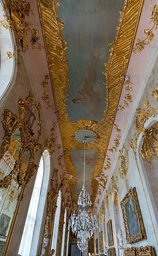
<svg viewBox="0 0 158 256"><path fill-rule="evenodd" d="M1 144L0 148L0 159L3 157L3 155L10 150L9 147L12 144L13 135L17 130L19 130L19 157L16 159L15 165L13 170L9 173L9 175L6 175L4 179L0 180L0 187L8 188L8 186L11 184L11 181L14 177L16 182L21 185L26 185L31 176L35 173L38 166L34 163L34 156L36 151L38 151L41 147L41 145L38 143L40 135L41 135L41 118L40 118L40 104L37 104L35 101L35 98L30 92L29 96L26 98L26 100L19 99L19 116L17 114L14 114L8 109L5 109L3 116L4 119L2 121L3 129L5 132L5 135L3 137L3 142ZM35 113L37 116L37 125L38 125L38 131L37 136L35 138L35 131L32 130L32 126L30 126L31 118L33 117L34 113L32 112L31 108L35 109ZM29 110L28 110L29 109ZM29 111L29 114L28 114ZM33 123L32 123L33 124ZM24 153L28 151L30 154L28 166L25 170L22 168L23 162L24 162Z"/></svg>

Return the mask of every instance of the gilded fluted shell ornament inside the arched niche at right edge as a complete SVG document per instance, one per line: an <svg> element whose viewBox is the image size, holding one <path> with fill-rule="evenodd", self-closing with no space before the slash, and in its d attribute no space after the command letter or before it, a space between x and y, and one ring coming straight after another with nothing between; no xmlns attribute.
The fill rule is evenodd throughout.
<svg viewBox="0 0 158 256"><path fill-rule="evenodd" d="M141 156L145 159L153 171L152 157L158 159L158 122L143 131L143 142L141 146Z"/></svg>

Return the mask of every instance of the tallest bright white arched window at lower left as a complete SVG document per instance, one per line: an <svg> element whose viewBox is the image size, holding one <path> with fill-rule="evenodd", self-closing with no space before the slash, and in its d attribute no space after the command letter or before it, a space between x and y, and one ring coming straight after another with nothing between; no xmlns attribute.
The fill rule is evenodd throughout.
<svg viewBox="0 0 158 256"><path fill-rule="evenodd" d="M39 162L38 172L19 247L19 254L22 256L37 255L49 176L50 157L48 151L44 150Z"/></svg>

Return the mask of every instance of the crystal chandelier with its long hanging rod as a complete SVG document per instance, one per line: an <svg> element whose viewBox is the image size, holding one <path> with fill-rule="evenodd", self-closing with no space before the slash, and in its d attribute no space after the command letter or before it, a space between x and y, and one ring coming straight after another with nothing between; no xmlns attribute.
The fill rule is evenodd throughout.
<svg viewBox="0 0 158 256"><path fill-rule="evenodd" d="M90 215L89 210L85 207L92 205L90 196L85 189L85 152L86 152L86 140L84 139L84 168L83 168L83 187L78 197L77 204L79 208L77 212L73 212L70 217L70 226L72 232L77 236L77 246L83 252L88 247L88 239L93 236L95 228L97 226L96 215ZM82 209L80 209L80 207Z"/></svg>

